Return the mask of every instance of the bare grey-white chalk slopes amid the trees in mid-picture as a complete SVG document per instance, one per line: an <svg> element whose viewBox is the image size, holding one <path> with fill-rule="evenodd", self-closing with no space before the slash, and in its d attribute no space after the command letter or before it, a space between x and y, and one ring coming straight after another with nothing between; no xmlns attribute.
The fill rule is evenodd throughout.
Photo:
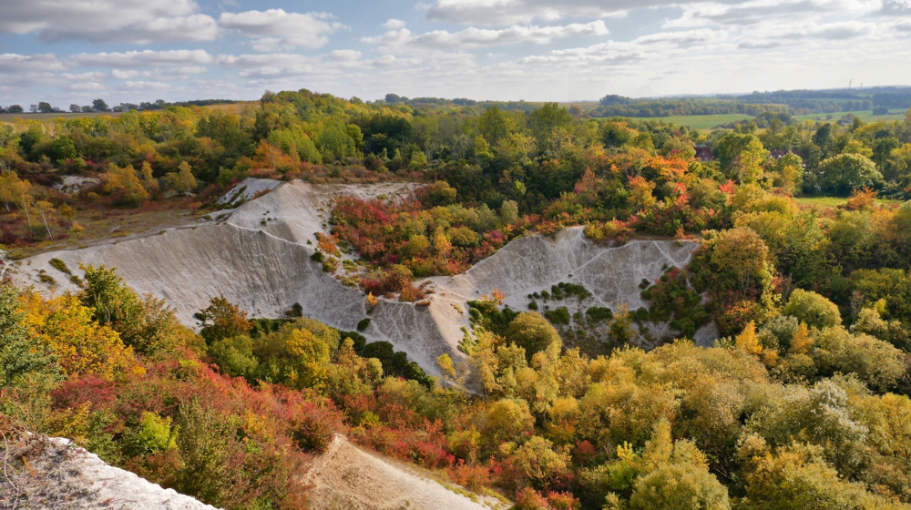
<svg viewBox="0 0 911 510"><path fill-rule="evenodd" d="M273 182L249 180L257 182L248 189L269 189ZM76 291L48 260L64 260L74 272L78 272L79 262L104 264L116 267L139 293L151 292L166 299L189 326L195 326L193 313L208 306L211 298L223 295L259 317L280 317L299 302L305 316L353 331L367 317L365 296L310 259L314 234L328 230L332 200L341 193L394 197L413 189L415 185L402 183L288 182L243 204L221 222L83 250L44 253L20 262L14 278L21 285L46 290L46 284L37 279L37 272L46 270L59 277L56 280L61 285L54 292ZM635 309L644 305L640 281L654 280L665 267L685 265L695 248L693 242L673 240L636 240L609 248L585 239L580 227L559 232L554 238L514 240L464 274L418 281L427 282L434 291L429 306L381 299L363 334L369 341L393 343L396 350L407 352L425 370L436 373L435 360L440 354L462 357L457 347L463 337L461 328L469 325L466 301L495 287L506 294L507 304L515 310L525 310L528 293L549 289L559 281L582 284L601 306L616 311L627 304Z"/></svg>

